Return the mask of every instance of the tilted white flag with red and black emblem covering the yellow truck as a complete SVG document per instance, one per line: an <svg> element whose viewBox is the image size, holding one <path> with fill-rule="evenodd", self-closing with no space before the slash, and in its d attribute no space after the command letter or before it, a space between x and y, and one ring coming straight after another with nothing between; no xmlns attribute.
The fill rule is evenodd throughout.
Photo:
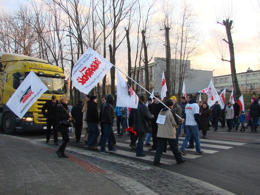
<svg viewBox="0 0 260 195"><path fill-rule="evenodd" d="M31 71L8 100L6 106L8 106L19 118L22 118L34 102L36 102L36 100L47 90L48 88L41 79Z"/></svg>

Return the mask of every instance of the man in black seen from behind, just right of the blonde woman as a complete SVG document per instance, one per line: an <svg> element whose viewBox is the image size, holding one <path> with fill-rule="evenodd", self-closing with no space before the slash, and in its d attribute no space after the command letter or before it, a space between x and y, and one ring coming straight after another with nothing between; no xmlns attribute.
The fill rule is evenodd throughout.
<svg viewBox="0 0 260 195"><path fill-rule="evenodd" d="M81 100L78 100L78 104L72 107L71 109L71 117L74 119L72 120L72 123L75 126L76 143L81 142L80 138L82 132L82 125L83 125L83 113L81 112L83 109L82 104L83 102Z"/></svg>

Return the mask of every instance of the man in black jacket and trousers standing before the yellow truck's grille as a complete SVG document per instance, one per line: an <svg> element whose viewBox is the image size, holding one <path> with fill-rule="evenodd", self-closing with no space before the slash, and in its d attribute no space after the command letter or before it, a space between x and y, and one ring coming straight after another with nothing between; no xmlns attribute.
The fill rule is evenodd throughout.
<svg viewBox="0 0 260 195"><path fill-rule="evenodd" d="M57 132L57 104L56 96L52 96L52 100L47 101L42 107L43 117L46 117L46 143L49 143L51 135L51 127L53 129L54 144L58 145L58 132ZM47 109L47 113L45 112Z"/></svg>

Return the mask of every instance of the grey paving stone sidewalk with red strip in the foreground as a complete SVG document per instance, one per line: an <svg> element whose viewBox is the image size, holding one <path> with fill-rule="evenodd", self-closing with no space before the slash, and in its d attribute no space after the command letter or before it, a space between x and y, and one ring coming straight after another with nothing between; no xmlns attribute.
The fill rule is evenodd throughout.
<svg viewBox="0 0 260 195"><path fill-rule="evenodd" d="M208 194L226 190L124 158L0 135L0 194Z"/></svg>

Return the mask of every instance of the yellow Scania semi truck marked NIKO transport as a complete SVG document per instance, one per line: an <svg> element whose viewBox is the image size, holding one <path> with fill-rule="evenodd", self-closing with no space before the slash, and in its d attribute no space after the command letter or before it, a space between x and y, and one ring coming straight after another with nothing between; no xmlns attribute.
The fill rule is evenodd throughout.
<svg viewBox="0 0 260 195"><path fill-rule="evenodd" d="M19 118L6 103L30 71L34 71L49 90L32 105L23 118ZM61 67L39 58L0 52L0 128L9 135L16 131L45 130L46 118L42 115L42 106L51 99L52 94L57 99L64 96L67 85L68 81L65 80Z"/></svg>

